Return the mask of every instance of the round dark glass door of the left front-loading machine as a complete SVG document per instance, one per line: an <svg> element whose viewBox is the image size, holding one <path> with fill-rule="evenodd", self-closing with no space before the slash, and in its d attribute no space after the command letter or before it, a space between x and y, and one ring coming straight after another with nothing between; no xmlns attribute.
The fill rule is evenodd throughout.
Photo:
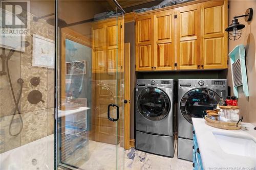
<svg viewBox="0 0 256 170"><path fill-rule="evenodd" d="M167 94L160 88L148 87L140 92L137 107L143 117L157 121L168 115L171 103Z"/></svg>

